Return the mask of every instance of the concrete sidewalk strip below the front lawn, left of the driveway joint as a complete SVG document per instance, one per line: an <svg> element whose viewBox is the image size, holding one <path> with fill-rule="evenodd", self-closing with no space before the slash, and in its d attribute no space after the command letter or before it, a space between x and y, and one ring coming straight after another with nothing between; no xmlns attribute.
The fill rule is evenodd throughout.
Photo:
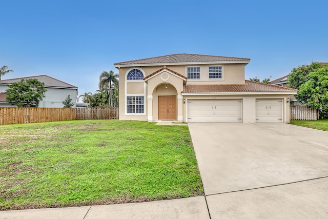
<svg viewBox="0 0 328 219"><path fill-rule="evenodd" d="M210 218L204 196L119 205L0 211L0 219Z"/></svg>

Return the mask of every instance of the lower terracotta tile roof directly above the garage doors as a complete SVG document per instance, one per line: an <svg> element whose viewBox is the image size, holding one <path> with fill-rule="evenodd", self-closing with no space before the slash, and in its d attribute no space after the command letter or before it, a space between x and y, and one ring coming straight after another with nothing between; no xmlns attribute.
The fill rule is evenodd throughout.
<svg viewBox="0 0 328 219"><path fill-rule="evenodd" d="M280 87L245 80L245 84L232 85L185 85L183 93L230 93L230 92L291 92L293 88Z"/></svg>

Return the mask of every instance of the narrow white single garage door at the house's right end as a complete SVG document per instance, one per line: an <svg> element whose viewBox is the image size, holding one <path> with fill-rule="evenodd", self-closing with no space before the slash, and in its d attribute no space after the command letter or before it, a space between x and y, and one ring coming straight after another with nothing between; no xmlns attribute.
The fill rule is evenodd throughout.
<svg viewBox="0 0 328 219"><path fill-rule="evenodd" d="M282 99L256 99L257 123L282 123Z"/></svg>

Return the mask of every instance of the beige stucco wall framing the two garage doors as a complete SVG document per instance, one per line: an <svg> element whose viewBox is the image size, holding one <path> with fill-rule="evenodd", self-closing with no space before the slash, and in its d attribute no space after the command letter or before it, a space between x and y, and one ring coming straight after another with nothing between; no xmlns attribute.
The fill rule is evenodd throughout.
<svg viewBox="0 0 328 219"><path fill-rule="evenodd" d="M282 122L290 123L290 104L287 103L289 95L203 95L203 96L183 96L186 104L183 107L183 122L186 122L188 116L188 99L241 99L242 100L242 122L256 123L256 99L282 99Z"/></svg>

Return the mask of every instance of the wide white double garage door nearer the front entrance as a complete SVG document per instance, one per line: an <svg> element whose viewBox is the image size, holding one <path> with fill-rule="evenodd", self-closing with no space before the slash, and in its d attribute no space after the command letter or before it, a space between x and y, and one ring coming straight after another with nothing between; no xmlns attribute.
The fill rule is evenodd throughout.
<svg viewBox="0 0 328 219"><path fill-rule="evenodd" d="M241 99L190 99L188 122L241 123Z"/></svg>

